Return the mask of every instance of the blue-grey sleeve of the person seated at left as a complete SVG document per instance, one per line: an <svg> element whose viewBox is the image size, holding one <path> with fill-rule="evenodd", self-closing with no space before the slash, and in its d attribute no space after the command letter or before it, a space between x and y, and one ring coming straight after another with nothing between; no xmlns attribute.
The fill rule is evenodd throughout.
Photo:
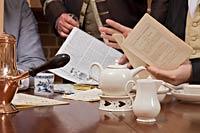
<svg viewBox="0 0 200 133"><path fill-rule="evenodd" d="M27 71L32 67L43 64L46 59L38 34L37 22L25 0L21 9L20 19L17 40L17 68L21 71Z"/></svg>

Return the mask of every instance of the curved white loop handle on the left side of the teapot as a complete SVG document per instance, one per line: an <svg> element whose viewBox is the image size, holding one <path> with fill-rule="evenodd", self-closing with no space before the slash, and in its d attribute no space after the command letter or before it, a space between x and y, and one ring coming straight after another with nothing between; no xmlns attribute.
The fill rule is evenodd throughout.
<svg viewBox="0 0 200 133"><path fill-rule="evenodd" d="M99 82L99 76L100 76L100 73L102 72L102 70L103 70L103 67L99 63L97 63L97 62L92 63L89 67L90 78ZM94 72L97 72L97 73L94 73ZM97 75L97 74L99 74L99 75Z"/></svg>

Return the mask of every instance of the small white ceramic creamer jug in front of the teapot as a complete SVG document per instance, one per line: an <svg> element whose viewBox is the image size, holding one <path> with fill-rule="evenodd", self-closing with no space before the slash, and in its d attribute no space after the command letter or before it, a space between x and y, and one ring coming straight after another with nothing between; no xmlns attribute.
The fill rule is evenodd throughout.
<svg viewBox="0 0 200 133"><path fill-rule="evenodd" d="M155 79L138 79L136 82L130 80L126 84L126 92L135 86L136 97L132 107L138 122L155 122L155 117L160 113L160 102L157 96L157 90L163 81Z"/></svg>

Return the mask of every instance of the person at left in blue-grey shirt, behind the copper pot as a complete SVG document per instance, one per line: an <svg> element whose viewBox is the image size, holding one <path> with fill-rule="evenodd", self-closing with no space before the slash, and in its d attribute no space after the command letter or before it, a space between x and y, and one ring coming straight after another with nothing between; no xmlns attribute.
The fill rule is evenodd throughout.
<svg viewBox="0 0 200 133"><path fill-rule="evenodd" d="M21 73L46 61L37 22L26 0L5 0L4 32L16 38L17 69ZM32 78L24 79L19 89L27 89L31 85Z"/></svg>

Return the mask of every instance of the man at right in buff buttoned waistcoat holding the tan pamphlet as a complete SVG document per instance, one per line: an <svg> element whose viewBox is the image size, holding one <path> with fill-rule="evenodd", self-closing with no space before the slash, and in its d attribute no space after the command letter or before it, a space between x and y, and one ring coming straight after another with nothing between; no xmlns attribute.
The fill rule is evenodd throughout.
<svg viewBox="0 0 200 133"><path fill-rule="evenodd" d="M189 7L189 11L188 11ZM154 66L146 66L147 70L157 79L164 80L174 85L189 82L193 84L200 83L200 0L169 0L167 4L167 15L161 19L169 30L193 47L194 51L190 60L186 60L182 65L174 70L163 70ZM125 35L130 32L130 28L121 25L112 20L106 20L107 24L114 27L115 30L100 27L101 37L114 40L112 34L121 32ZM185 32L186 31L186 32ZM111 44L110 44L111 45ZM117 44L112 44L116 47ZM120 64L127 63L126 56L123 56Z"/></svg>

